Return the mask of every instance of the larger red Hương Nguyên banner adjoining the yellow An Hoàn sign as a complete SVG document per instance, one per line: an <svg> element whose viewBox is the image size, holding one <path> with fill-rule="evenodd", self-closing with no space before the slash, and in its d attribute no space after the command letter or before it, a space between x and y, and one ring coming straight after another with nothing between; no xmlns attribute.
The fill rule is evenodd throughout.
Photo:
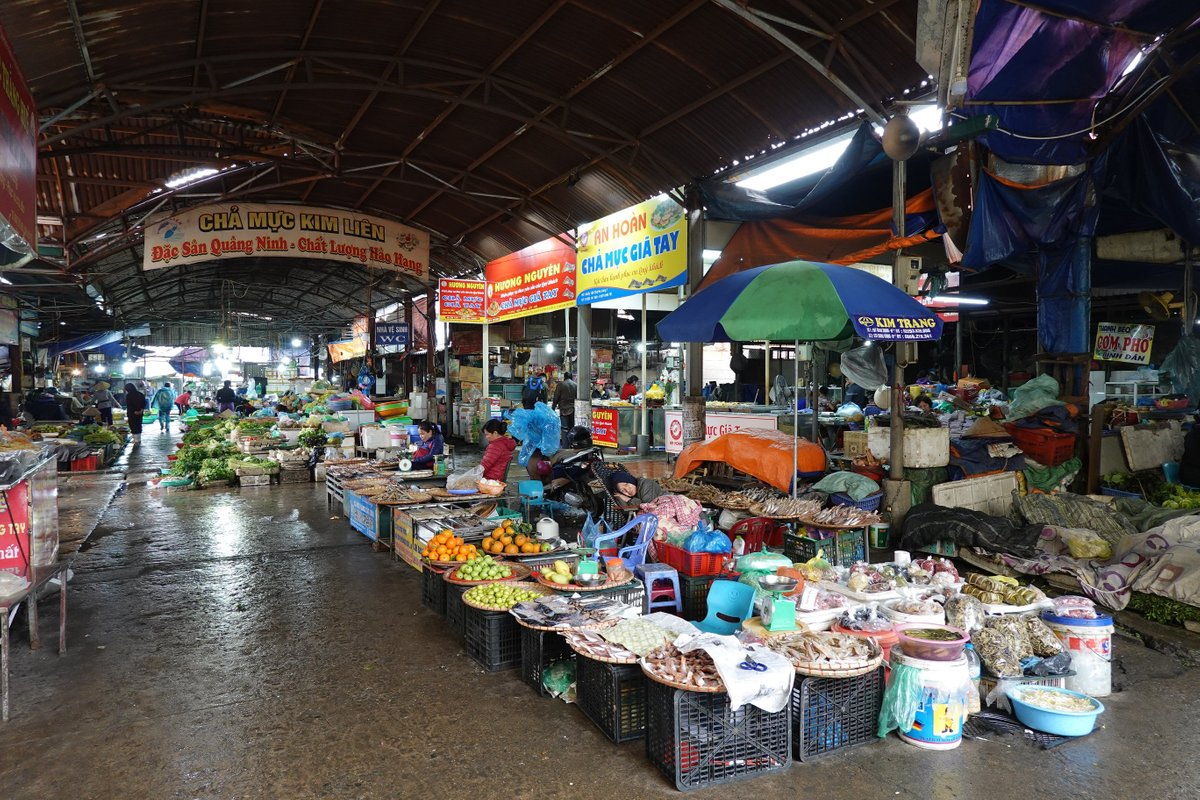
<svg viewBox="0 0 1200 800"><path fill-rule="evenodd" d="M547 239L490 261L484 276L484 311L490 323L575 305L575 247L560 239Z"/></svg>

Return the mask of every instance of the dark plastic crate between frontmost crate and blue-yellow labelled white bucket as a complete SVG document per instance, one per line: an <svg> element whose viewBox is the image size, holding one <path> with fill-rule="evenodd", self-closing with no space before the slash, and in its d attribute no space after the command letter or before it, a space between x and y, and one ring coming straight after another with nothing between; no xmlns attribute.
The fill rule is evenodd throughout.
<svg viewBox="0 0 1200 800"><path fill-rule="evenodd" d="M878 741L883 668L858 678L796 676L792 742L796 760L811 762Z"/></svg>

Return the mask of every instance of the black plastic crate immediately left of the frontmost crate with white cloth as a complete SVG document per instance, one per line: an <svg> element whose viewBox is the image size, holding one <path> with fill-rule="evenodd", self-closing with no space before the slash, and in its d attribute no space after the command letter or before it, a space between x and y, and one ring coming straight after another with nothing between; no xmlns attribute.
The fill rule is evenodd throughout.
<svg viewBox="0 0 1200 800"><path fill-rule="evenodd" d="M575 703L614 744L646 735L646 675L637 664L576 656Z"/></svg>

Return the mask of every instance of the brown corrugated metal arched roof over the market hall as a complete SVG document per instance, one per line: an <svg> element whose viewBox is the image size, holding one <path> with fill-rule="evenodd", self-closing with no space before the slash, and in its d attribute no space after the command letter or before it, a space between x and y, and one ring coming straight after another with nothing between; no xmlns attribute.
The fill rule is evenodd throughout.
<svg viewBox="0 0 1200 800"><path fill-rule="evenodd" d="M917 0L744 5L822 31L768 23L870 103L924 77ZM258 284L308 284L246 264L143 293L137 223L157 206L359 209L431 231L457 275L853 110L713 0L6 0L0 25L44 124L38 212L65 217L41 233L130 324L203 314L220 278L280 313L294 293ZM163 188L198 166L229 169ZM344 275L347 302L365 279Z"/></svg>

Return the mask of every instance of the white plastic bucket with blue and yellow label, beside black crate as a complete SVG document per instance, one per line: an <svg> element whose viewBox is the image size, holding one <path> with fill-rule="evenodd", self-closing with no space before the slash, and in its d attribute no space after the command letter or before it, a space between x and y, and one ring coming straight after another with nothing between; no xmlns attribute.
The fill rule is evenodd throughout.
<svg viewBox="0 0 1200 800"><path fill-rule="evenodd" d="M967 718L967 692L971 678L967 660L925 661L906 656L901 646L892 648L892 666L905 664L920 670L920 698L912 729L900 732L910 745L925 750L954 750L962 744L962 723Z"/></svg>

